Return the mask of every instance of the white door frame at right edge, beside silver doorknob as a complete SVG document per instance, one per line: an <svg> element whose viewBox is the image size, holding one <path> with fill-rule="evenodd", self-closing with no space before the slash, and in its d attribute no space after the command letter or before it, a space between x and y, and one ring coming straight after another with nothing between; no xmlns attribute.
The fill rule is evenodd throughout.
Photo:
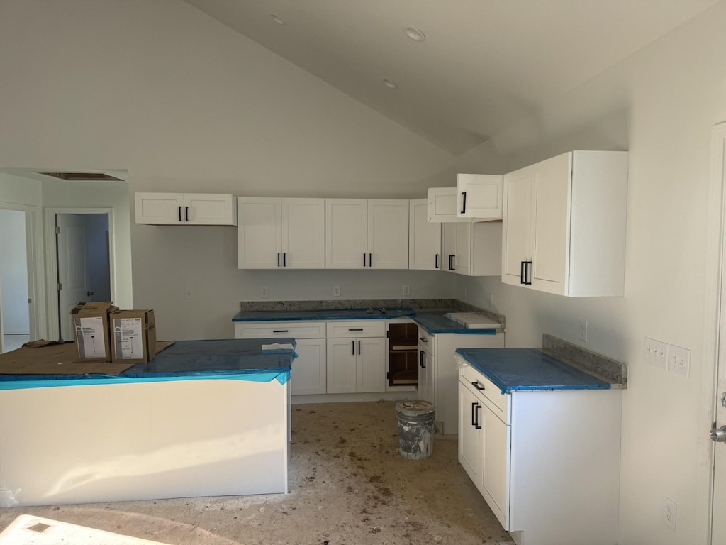
<svg viewBox="0 0 726 545"><path fill-rule="evenodd" d="M709 183L709 222L706 249L705 327L703 328L703 379L701 393L703 407L709 421L703 422L704 441L710 443L709 475L699 486L697 512L708 518L708 543L713 540L714 485L717 443L711 443L706 434L717 413L717 384L719 366L726 366L726 346L720 342L722 314L726 310L726 122L711 130L711 174ZM723 423L722 423L723 424ZM706 488L706 491L702 489ZM703 509L703 511L701 511ZM715 544L713 544L715 545Z"/></svg>

